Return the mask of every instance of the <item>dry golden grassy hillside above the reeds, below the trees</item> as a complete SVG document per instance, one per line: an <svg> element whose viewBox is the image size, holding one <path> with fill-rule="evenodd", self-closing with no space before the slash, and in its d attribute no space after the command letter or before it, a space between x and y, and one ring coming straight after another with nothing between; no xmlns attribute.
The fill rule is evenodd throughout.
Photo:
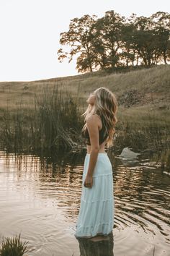
<svg viewBox="0 0 170 256"><path fill-rule="evenodd" d="M22 108L31 107L35 95L40 97L47 87L48 91L53 90L53 85L71 92L79 102L80 111L86 108L86 98L89 93L105 86L117 96L119 103L117 116L121 120L147 121L150 115L153 115L156 121L166 121L170 124L169 65L125 74L94 72L32 82L0 82L0 111L3 112L6 108L12 110L16 104Z"/></svg>

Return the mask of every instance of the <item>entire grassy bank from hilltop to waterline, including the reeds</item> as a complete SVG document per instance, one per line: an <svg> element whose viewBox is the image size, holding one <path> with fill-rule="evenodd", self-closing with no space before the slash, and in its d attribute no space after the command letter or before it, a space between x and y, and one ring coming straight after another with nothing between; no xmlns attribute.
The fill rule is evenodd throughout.
<svg viewBox="0 0 170 256"><path fill-rule="evenodd" d="M6 150L83 150L81 114L89 93L106 86L119 104L114 145L169 148L169 65L125 73L96 72L32 82L1 82L0 135ZM167 156L168 158L168 156Z"/></svg>

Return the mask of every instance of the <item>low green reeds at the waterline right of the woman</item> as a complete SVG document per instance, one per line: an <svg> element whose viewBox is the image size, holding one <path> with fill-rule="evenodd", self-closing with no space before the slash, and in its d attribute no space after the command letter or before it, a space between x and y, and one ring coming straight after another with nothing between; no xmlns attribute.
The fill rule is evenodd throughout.
<svg viewBox="0 0 170 256"><path fill-rule="evenodd" d="M155 124L154 117L144 123L121 121L117 123L114 138L115 148L129 147L133 150L164 150L169 149L170 143L169 126Z"/></svg>

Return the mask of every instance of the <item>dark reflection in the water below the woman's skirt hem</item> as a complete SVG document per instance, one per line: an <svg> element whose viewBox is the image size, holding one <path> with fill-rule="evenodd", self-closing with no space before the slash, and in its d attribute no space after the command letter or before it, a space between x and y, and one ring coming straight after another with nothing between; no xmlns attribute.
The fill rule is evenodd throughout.
<svg viewBox="0 0 170 256"><path fill-rule="evenodd" d="M79 242L81 256L113 256L113 234L107 236L107 240L92 242L91 239L76 237Z"/></svg>

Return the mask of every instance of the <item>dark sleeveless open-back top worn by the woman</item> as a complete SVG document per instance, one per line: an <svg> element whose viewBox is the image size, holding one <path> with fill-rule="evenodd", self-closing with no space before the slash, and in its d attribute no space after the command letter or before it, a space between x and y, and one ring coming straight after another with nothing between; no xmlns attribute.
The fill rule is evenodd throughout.
<svg viewBox="0 0 170 256"><path fill-rule="evenodd" d="M106 140L108 137L107 129L104 125L104 119L102 118L102 116L100 116L100 118L102 120L102 129L99 130L99 145L101 145L104 142L104 140ZM84 138L86 138L86 144L91 145L87 127L84 130L84 132L82 132L82 135Z"/></svg>

